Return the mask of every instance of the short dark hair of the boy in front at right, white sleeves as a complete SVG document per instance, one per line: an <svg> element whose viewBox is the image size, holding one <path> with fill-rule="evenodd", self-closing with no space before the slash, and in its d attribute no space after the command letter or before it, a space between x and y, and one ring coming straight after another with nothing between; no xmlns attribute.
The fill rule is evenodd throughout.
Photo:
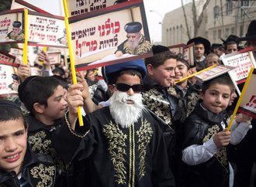
<svg viewBox="0 0 256 187"><path fill-rule="evenodd" d="M215 78L211 79L211 80L207 80L206 82L202 83L202 93L206 93L206 90L209 89L210 86L212 86L213 84L222 84L222 85L227 85L228 87L230 87L230 93L232 90L234 90L234 84L232 83L232 80L230 79L230 76L228 76L227 74L223 74L221 76L216 76Z"/></svg>

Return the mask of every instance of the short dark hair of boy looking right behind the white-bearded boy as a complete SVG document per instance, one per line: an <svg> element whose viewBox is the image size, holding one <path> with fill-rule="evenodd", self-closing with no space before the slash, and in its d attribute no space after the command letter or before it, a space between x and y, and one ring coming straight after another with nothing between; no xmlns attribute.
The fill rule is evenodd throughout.
<svg viewBox="0 0 256 187"><path fill-rule="evenodd" d="M148 64L151 64L154 68L157 66L161 66L164 64L165 60L167 59L177 59L178 56L175 55L174 53L171 53L170 50L166 50L161 53L156 53L154 56L151 56L147 59L145 59L145 65L147 66Z"/></svg>

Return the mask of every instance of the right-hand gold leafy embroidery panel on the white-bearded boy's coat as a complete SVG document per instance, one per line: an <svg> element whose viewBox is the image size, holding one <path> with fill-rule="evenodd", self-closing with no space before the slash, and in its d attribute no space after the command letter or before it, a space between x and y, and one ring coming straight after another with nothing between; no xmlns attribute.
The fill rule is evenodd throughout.
<svg viewBox="0 0 256 187"><path fill-rule="evenodd" d="M140 151L140 163L139 163L139 171L140 171L140 179L144 177L145 175L145 158L147 155L147 145L150 143L153 130L150 126L150 124L145 120L141 121L141 127L140 130L137 131L137 136L139 138L138 140L138 150Z"/></svg>

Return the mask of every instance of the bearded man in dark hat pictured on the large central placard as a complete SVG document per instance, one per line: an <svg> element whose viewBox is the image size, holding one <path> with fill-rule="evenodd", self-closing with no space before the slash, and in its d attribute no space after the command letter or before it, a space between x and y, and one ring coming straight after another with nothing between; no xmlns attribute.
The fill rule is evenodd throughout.
<svg viewBox="0 0 256 187"><path fill-rule="evenodd" d="M127 39L117 46L116 56L123 56L125 53L132 55L142 55L149 53L151 44L145 36L141 33L142 25L140 22L129 22L124 26L127 32Z"/></svg>

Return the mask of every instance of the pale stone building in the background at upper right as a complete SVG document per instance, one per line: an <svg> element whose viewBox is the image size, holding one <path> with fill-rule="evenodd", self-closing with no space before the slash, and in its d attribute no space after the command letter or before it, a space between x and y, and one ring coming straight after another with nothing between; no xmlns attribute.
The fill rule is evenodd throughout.
<svg viewBox="0 0 256 187"><path fill-rule="evenodd" d="M205 1L197 1L197 15L202 12ZM192 2L184 5L189 27L189 34L185 25L183 9L177 8L164 15L162 22L162 45L173 46L186 43L194 36L192 19ZM234 34L245 36L251 20L256 18L256 1L248 0L211 0L206 8L197 36L209 39L210 42L222 43L221 39Z"/></svg>

